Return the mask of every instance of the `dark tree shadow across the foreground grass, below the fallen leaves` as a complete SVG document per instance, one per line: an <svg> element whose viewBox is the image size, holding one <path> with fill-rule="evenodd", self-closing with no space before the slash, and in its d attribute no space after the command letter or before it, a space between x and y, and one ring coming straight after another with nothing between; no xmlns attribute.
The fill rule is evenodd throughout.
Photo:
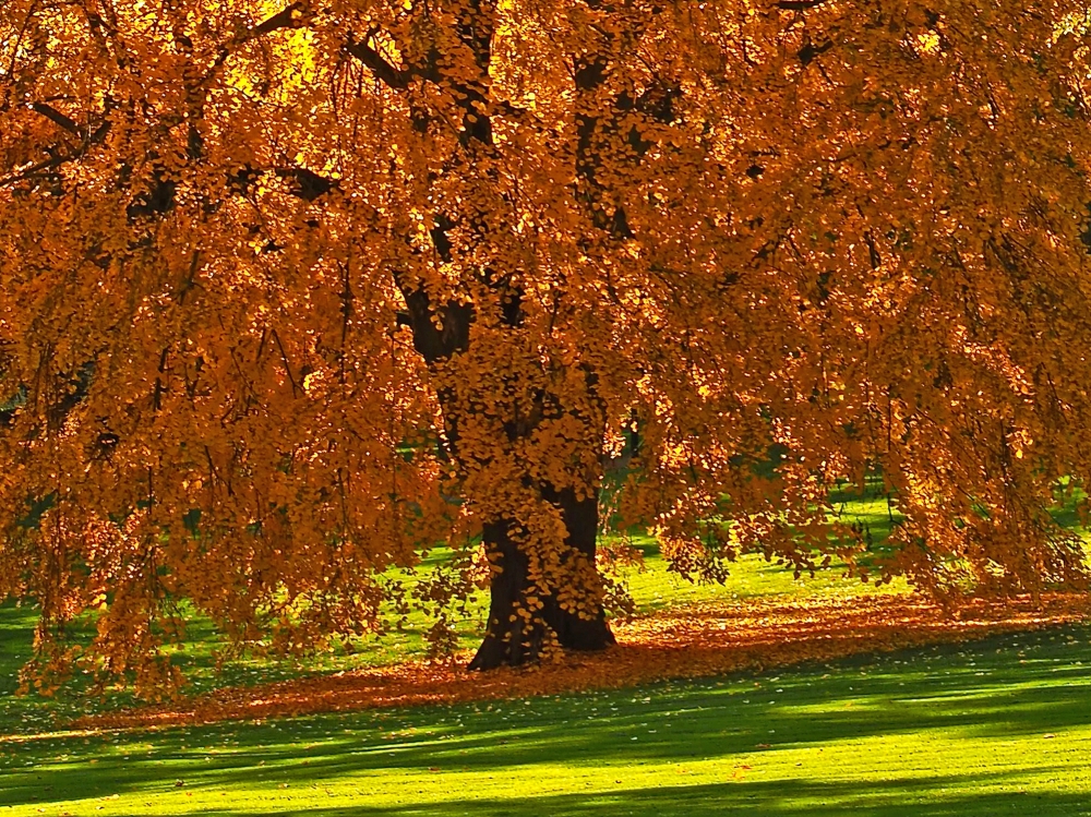
<svg viewBox="0 0 1091 817"><path fill-rule="evenodd" d="M966 741L1036 740L1091 724L1091 678L1084 669L1091 664L1089 641L1091 628L1069 626L994 636L972 645L856 657L782 670L778 675L736 674L620 690L309 716L259 724L219 723L105 736L41 735L0 747L0 806L129 792L159 796L170 791L176 778L187 781L188 791L197 791L312 785L348 778L375 782L380 780L376 774L429 769L497 776L526 770L532 774L536 765L554 764L574 769L616 767L624 780L625 768L647 764L730 757L756 766L775 758L780 749L829 747L877 736L932 732ZM949 766L943 758L923 758L922 762L933 770ZM883 764L883 758L874 758L875 768ZM1028 756L1026 766L1009 780L994 776L993 782L1015 789L1019 774L1038 765L1039 758ZM733 781L649 790L622 784L616 793L589 793L587 797L532 797L532 792L520 791L513 792L511 800L495 802L458 800L393 810L359 805L308 813L328 817L531 812L711 815L748 808L753 814L787 816L843 814L851 807L853 813L896 816L991 815L1041 812L1043 803L1055 814L1091 813L1075 810L1091 809L1087 793L1079 802L1062 794L1045 800L1018 795L1026 800L1021 812L994 809L988 800L992 794L962 805L959 797L970 798L964 792L955 800L947 796L950 792L938 800L925 797L946 786L984 783L987 777L956 776L948 782L939 777L908 778L883 784L804 778L775 785ZM912 805L892 794L884 800L887 789L911 797ZM920 797L927 802L918 802Z"/></svg>

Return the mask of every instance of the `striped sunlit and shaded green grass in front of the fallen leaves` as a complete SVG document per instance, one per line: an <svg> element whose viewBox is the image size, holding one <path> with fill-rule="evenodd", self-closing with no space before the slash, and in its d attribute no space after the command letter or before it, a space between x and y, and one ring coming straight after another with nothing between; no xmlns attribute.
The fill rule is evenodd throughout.
<svg viewBox="0 0 1091 817"><path fill-rule="evenodd" d="M46 736L3 747L0 814L1089 815L1089 666L1079 626L620 692Z"/></svg>

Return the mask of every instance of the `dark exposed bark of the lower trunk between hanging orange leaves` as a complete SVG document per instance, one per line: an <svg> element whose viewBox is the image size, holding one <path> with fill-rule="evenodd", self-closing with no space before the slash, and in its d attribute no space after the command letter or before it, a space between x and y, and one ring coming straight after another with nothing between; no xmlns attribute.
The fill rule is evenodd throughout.
<svg viewBox="0 0 1091 817"><path fill-rule="evenodd" d="M567 529L565 543L594 565L599 521L598 491L583 500L577 500L571 489L555 491L547 488L542 495L561 509ZM518 612L535 589L527 576L529 561L512 541L509 525L504 520L484 526L485 548L493 554L493 564L500 567L500 572L492 577L489 624L470 669L491 670L535 661L547 646L550 630L566 649L601 650L614 644L613 633L598 600L595 602L597 612L590 618L562 610L555 596L541 599L543 606L536 620L528 622ZM595 588L587 591L594 592ZM540 592L535 594L540 596Z"/></svg>

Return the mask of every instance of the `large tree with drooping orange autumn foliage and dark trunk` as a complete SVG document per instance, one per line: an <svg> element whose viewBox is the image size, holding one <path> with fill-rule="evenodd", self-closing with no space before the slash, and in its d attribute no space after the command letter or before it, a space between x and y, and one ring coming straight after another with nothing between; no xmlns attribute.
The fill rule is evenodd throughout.
<svg viewBox="0 0 1091 817"><path fill-rule="evenodd" d="M303 649L491 589L472 666L612 636L604 464L683 572L1083 586L1084 11L992 0L13 0L0 592L133 670L190 600ZM775 456L776 467L762 464ZM97 663L95 663L97 661Z"/></svg>

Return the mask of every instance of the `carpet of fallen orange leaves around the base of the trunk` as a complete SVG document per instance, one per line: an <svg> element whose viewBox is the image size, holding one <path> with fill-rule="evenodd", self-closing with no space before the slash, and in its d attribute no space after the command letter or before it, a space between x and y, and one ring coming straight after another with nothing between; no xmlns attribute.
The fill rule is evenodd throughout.
<svg viewBox="0 0 1091 817"><path fill-rule="evenodd" d="M540 668L471 673L461 665L404 664L232 687L173 705L85 716L75 729L145 729L223 720L455 704L616 688L666 678L760 671L861 652L1038 629L1082 621L1084 596L1054 593L1007 602L974 600L946 614L919 597L851 600L707 603L618 623L618 646L600 653L564 656Z"/></svg>

